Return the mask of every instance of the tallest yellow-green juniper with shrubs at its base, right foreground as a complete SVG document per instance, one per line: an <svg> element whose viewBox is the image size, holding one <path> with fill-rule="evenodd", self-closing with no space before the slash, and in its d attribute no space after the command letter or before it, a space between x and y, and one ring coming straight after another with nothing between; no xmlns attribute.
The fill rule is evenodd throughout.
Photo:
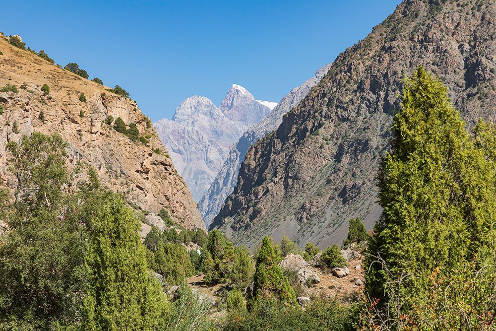
<svg viewBox="0 0 496 331"><path fill-rule="evenodd" d="M419 68L379 172L384 208L367 264L364 324L399 330L494 326L496 164L492 126L466 132L441 81ZM386 303L389 303L386 305ZM393 316L387 322L385 316Z"/></svg>

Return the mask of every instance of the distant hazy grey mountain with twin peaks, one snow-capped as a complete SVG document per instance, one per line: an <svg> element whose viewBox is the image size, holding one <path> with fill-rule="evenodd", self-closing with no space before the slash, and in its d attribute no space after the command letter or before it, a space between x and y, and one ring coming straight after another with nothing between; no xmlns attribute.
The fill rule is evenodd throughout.
<svg viewBox="0 0 496 331"><path fill-rule="evenodd" d="M229 154L229 146L260 122L276 103L259 101L233 84L219 107L202 96L187 98L172 120L155 124L195 201L199 201Z"/></svg>

